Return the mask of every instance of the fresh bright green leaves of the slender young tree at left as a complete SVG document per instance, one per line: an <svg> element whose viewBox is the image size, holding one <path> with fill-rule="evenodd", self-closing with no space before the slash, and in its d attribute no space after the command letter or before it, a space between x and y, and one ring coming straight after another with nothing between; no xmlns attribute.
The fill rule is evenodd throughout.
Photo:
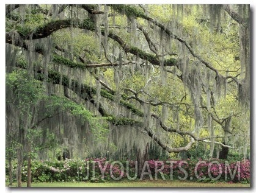
<svg viewBox="0 0 256 193"><path fill-rule="evenodd" d="M58 72L54 73L54 71L50 71L50 77L56 81L56 83L60 79L60 74ZM23 113L28 111L28 107L30 105L34 105L35 102L38 102L39 99L43 99L43 86L42 82L31 79L27 75L27 71L18 70L13 71L10 74L7 74L7 85L13 89L14 93L18 97L18 101L13 101L20 108ZM62 82L67 84L67 77L62 77ZM76 104L75 102L65 98L58 96L51 96L48 100L48 109L56 109L61 108L64 111L70 112L74 116L81 116L83 119L89 121L90 129L93 134L100 140L105 139L108 134L108 126L104 123L104 119L97 118L91 113L89 110L86 110L84 106ZM48 114L51 114L50 112ZM36 130L31 130L27 138L35 137L34 132L38 132ZM34 134L33 134L34 133ZM39 134L38 134L39 135Z"/></svg>

